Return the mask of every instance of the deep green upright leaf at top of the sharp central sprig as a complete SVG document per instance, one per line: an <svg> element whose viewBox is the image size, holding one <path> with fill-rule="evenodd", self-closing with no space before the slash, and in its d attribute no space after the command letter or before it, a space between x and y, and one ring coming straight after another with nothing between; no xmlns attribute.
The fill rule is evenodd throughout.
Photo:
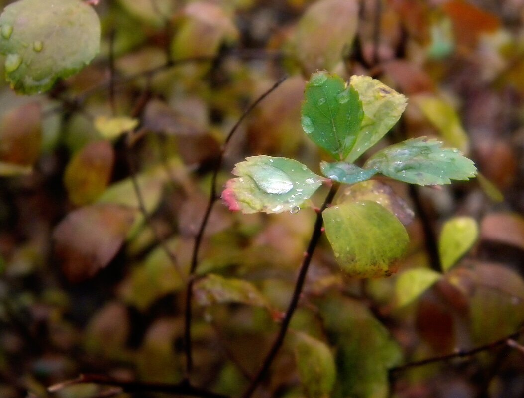
<svg viewBox="0 0 524 398"><path fill-rule="evenodd" d="M344 160L363 118L358 94L340 76L320 71L311 75L304 98L302 129L336 160Z"/></svg>

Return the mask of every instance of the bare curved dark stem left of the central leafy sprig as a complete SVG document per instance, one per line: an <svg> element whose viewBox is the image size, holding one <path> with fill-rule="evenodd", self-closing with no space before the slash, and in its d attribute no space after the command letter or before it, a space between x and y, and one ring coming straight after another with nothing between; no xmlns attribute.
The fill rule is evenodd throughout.
<svg viewBox="0 0 524 398"><path fill-rule="evenodd" d="M191 374L191 371L193 369L193 356L192 356L192 342L191 342L191 318L192 318L192 312L191 312L191 298L193 295L193 283L194 283L194 274L196 272L196 268L198 267L198 254L200 252L200 246L202 244L202 238L204 236L204 231L206 228L206 225L208 225L209 217L211 215L211 210L213 209L213 204L218 199L216 192L217 192L217 186L216 186L216 180L219 175L220 169L222 168L222 162L224 160L224 154L225 150L227 148L227 144L231 141L233 138L233 135L238 130L238 127L240 124L244 121L244 119L249 115L249 113L263 101L269 94L274 92L278 86L280 86L287 76L282 77L278 82L276 82L271 88L269 88L264 94L262 94L256 101L254 101L253 104L251 104L242 114L242 116L238 119L238 121L235 123L233 128L230 130L230 132L227 134L227 137L222 144L222 148L219 153L219 157L216 161L215 167L213 169L213 175L211 177L211 189L208 199L208 205L205 208L204 217L202 218L202 222L200 223L200 227L198 232L195 236L195 243L193 246L193 251L191 254L191 267L189 270L189 282L187 289L185 291L185 312L184 312L184 351L185 351L185 373L186 377L189 378L189 375Z"/></svg>

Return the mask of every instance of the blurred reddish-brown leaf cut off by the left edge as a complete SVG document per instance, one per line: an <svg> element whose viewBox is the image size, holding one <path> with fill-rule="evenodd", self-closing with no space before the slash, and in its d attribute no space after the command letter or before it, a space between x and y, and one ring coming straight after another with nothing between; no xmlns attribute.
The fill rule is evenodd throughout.
<svg viewBox="0 0 524 398"><path fill-rule="evenodd" d="M32 102L7 113L0 130L0 161L23 166L35 163L41 144L41 107Z"/></svg>

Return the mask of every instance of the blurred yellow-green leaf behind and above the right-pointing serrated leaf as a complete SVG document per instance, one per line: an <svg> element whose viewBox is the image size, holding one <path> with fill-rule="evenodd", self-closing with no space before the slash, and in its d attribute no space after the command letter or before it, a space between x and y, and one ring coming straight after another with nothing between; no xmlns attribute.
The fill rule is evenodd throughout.
<svg viewBox="0 0 524 398"><path fill-rule="evenodd" d="M432 95L418 95L410 98L424 116L435 126L447 144L468 152L470 139L467 137L456 110L446 101Z"/></svg>

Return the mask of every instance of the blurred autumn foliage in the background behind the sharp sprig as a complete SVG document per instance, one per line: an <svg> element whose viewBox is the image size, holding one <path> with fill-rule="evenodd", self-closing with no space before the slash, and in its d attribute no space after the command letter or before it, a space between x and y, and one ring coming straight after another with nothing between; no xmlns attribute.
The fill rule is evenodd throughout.
<svg viewBox="0 0 524 398"><path fill-rule="evenodd" d="M227 146L219 186L259 153L319 174L326 155L300 127L305 79L318 69L372 75L408 97L377 148L438 137L482 176L442 189L380 178L342 192L404 212L407 203L408 255L396 275L359 280L322 241L255 395L524 394L522 338L512 335L524 322L524 2L101 0L95 10L102 50L84 70L46 95L0 83L0 396L102 396L92 384L46 391L80 372L182 380L184 276L221 145L287 74ZM243 391L314 217L215 204L195 284L194 384Z"/></svg>

